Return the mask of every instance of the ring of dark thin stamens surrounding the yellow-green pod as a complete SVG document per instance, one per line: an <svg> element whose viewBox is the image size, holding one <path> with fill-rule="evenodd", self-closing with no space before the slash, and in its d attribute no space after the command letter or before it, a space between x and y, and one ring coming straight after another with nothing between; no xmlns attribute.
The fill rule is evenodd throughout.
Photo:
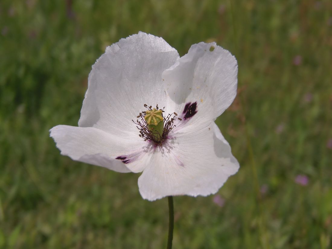
<svg viewBox="0 0 332 249"><path fill-rule="evenodd" d="M144 138L144 141L146 140L151 140L157 144L159 144L160 146L162 145L162 143L167 139L167 136L169 134L169 132L176 127L176 125L174 124L175 120L182 120L180 118L177 118L176 116L178 116L177 113L172 113L172 114L168 114L166 117L164 117L164 109L159 109L158 105L156 105L156 108L152 110L152 106L147 106L146 104L144 104L144 108L146 108L147 110L144 112L139 113L139 115L137 116L137 120L136 122L132 120L132 122L134 122L134 124L136 124L137 129L139 130L139 136ZM145 116L150 115L151 113L155 112L155 111L161 111L161 116L163 118L163 124L164 124L164 128L162 131L162 134L160 134L159 131L154 130L153 128L151 128L151 125L149 125L145 119ZM159 113L160 113L159 111ZM138 120L140 119L140 120ZM150 118L151 120L151 118Z"/></svg>

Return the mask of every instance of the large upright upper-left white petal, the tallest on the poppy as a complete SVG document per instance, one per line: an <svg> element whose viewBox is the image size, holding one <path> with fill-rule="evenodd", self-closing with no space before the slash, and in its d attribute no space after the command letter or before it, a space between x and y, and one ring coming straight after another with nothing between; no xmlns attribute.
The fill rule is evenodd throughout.
<svg viewBox="0 0 332 249"><path fill-rule="evenodd" d="M161 73L179 58L162 38L139 33L106 48L93 65L78 122L125 136L144 104L166 106Z"/></svg>

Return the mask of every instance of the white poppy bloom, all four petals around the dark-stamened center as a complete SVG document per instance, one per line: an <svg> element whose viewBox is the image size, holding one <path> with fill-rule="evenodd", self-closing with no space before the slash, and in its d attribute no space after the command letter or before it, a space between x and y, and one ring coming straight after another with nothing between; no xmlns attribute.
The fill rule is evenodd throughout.
<svg viewBox="0 0 332 249"><path fill-rule="evenodd" d="M194 44L180 58L162 38L140 32L107 47L88 82L79 126L50 130L62 155L143 172L139 192L150 201L214 194L237 172L239 164L214 123L235 98L237 62L214 42ZM144 104L165 107L163 117L175 118L159 144L140 137L132 122L143 122Z"/></svg>

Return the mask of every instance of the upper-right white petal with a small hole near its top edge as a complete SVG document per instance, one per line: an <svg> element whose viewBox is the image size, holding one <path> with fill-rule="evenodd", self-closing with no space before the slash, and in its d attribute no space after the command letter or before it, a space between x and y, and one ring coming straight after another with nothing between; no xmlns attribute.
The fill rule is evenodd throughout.
<svg viewBox="0 0 332 249"><path fill-rule="evenodd" d="M237 61L215 42L200 42L165 70L162 78L170 100L168 108L183 113L186 104L196 102L198 114L193 120L210 122L221 115L236 96Z"/></svg>

